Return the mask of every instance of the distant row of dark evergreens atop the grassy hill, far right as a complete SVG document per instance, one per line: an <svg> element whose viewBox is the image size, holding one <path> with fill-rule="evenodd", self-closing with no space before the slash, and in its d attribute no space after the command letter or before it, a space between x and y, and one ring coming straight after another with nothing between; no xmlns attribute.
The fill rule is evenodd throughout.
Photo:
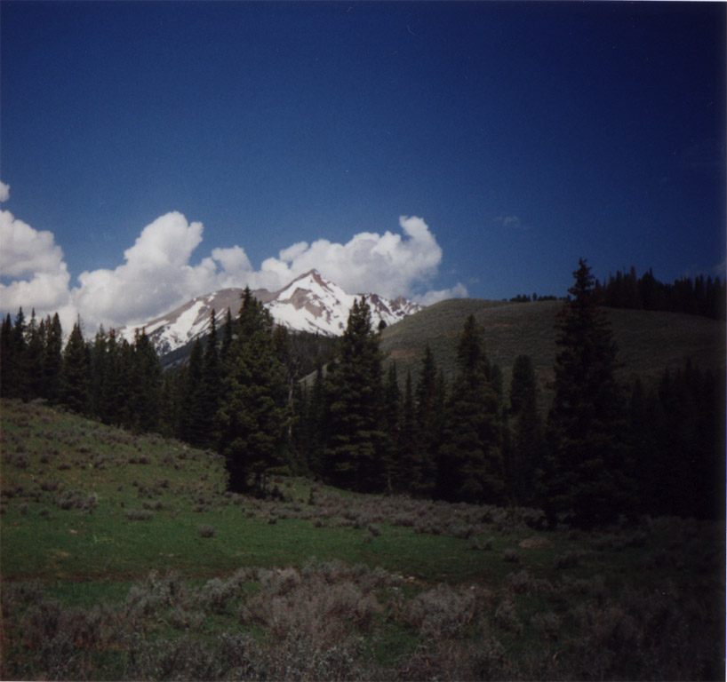
<svg viewBox="0 0 727 682"><path fill-rule="evenodd" d="M609 275L603 283L595 282L595 298L600 305L611 308L662 310L669 313L702 315L715 320L725 319L725 282L703 274L691 280L683 277L672 284L659 282L651 272L641 277L634 266L628 272Z"/></svg>

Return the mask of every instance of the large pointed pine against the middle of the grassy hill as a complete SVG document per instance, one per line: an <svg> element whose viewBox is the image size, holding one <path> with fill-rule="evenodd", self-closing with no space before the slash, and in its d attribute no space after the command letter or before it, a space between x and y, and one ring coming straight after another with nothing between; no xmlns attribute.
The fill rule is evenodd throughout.
<svg viewBox="0 0 727 682"><path fill-rule="evenodd" d="M473 315L459 337L457 362L440 448L439 495L450 501L498 504L505 492L502 408Z"/></svg>

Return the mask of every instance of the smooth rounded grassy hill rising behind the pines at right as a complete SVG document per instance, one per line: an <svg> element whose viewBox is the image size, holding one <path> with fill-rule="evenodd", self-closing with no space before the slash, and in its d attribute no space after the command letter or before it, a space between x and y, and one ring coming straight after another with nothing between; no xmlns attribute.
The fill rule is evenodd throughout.
<svg viewBox="0 0 727 682"><path fill-rule="evenodd" d="M509 385L515 358L530 355L541 388L553 378L555 315L562 301L507 303L456 299L431 305L384 330L381 348L396 362L399 377L411 369L416 381L427 341L435 360L451 378L456 371L459 333L469 314L483 328L492 362ZM702 368L724 368L724 324L695 315L603 308L623 363L620 377L656 377L667 367L682 367L687 358Z"/></svg>

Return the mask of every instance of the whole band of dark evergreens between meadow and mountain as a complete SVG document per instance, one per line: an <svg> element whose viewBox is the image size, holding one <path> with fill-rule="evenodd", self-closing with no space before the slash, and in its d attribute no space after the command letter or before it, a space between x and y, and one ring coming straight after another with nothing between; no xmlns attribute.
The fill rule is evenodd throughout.
<svg viewBox="0 0 727 682"><path fill-rule="evenodd" d="M78 321L63 347L58 315L8 315L0 393L214 449L230 488L260 495L292 472L364 492L538 507L550 523L723 514L723 374L687 363L649 387L619 385L585 262L574 277L555 320L545 418L530 357L517 357L506 389L473 316L456 376L445 381L427 346L414 385L387 364L364 298L328 345L274 324L249 289L235 317L218 330L212 312L206 343L165 372L143 329L133 342L103 329L87 342Z"/></svg>

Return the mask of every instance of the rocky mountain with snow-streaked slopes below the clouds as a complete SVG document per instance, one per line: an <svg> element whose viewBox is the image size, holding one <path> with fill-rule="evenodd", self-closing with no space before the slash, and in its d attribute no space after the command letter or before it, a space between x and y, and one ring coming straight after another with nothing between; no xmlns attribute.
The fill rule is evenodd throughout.
<svg viewBox="0 0 727 682"><path fill-rule="evenodd" d="M122 327L117 333L133 339L136 329L143 327L159 355L165 355L204 335L210 326L210 313L220 326L228 308L233 316L240 307L243 289L221 289L198 296L171 313L142 325ZM265 305L273 319L296 331L309 331L326 336L340 336L346 329L348 312L361 294L347 294L337 284L325 280L316 270L302 274L283 289L270 292L256 289L252 292ZM403 297L389 300L377 294L366 294L371 307L371 323L376 329L380 321L387 325L402 320L421 310L421 305Z"/></svg>

